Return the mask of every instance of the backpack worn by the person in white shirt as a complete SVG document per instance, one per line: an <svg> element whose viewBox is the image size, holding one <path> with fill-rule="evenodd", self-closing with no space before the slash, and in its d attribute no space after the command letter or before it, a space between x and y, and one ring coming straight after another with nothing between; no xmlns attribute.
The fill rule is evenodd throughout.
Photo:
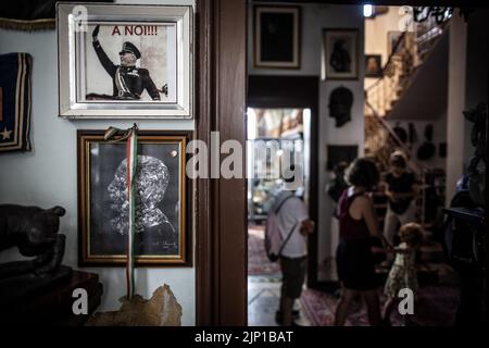
<svg viewBox="0 0 489 348"><path fill-rule="evenodd" d="M290 229L287 238L283 240L280 229L278 228L278 211L281 206L289 199L294 197L289 196L284 199L280 204L275 209L268 212L268 216L266 217L266 226L265 226L265 251L268 260L271 262L276 262L278 257L281 253L281 250L286 246L287 241L289 241L290 236L292 235L293 229L297 226L297 223L293 225L292 229Z"/></svg>

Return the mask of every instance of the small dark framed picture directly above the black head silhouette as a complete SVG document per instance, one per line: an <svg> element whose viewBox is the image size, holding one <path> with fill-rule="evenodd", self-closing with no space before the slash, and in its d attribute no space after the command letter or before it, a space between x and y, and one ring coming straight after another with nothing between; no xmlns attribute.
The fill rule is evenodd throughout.
<svg viewBox="0 0 489 348"><path fill-rule="evenodd" d="M359 30L323 30L323 79L359 78Z"/></svg>

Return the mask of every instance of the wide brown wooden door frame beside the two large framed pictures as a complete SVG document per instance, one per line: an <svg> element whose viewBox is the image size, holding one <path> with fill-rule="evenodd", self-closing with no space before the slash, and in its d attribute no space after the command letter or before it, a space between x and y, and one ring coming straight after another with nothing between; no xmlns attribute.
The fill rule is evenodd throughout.
<svg viewBox="0 0 489 348"><path fill-rule="evenodd" d="M246 0L197 1L195 137L208 145L214 130L246 145ZM195 184L197 325L247 325L246 179Z"/></svg>

